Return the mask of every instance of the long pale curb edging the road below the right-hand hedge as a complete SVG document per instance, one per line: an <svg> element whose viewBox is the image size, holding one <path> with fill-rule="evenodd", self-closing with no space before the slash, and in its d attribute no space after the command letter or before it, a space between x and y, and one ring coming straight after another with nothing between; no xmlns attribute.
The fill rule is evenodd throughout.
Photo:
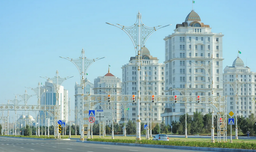
<svg viewBox="0 0 256 152"><path fill-rule="evenodd" d="M208 147L188 147L188 146L168 146L168 145L151 145L151 144L129 144L129 143L118 143L118 142L92 142L92 141L81 141L91 144L110 144L110 145L121 145L121 146L137 146L137 147L150 147L150 148L168 148L168 149L183 149L183 150L204 150L214 152L255 152L255 150L247 149L231 149L231 148L208 148Z"/></svg>

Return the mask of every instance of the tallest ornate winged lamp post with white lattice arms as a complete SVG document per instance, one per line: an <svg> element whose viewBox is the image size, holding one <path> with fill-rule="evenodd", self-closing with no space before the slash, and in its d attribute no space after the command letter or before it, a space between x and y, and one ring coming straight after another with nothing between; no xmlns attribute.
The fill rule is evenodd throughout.
<svg viewBox="0 0 256 152"><path fill-rule="evenodd" d="M107 22L106 22L106 24L116 26L114 24L110 24ZM144 48L145 43L148 40L149 36L152 33L154 33L156 30L158 30L160 28L164 28L169 25L162 26L162 27L157 26L160 28L145 26L142 23L140 12L138 12L137 20L132 26L123 26L120 24L117 24L117 25L118 25L118 26L116 26L117 28L120 28L121 30L123 30L130 37L130 39L132 40L132 43L134 45L135 52L137 52L137 59L138 59L138 77L137 77L137 80L138 80L138 98L137 98L138 110L137 110L137 113L138 113L138 115L137 115L137 120L136 120L136 125L137 125L136 140L141 140L141 138L140 138L140 122L141 122L141 120L140 120L140 89L139 88L140 88L140 59L142 56L140 54L142 54L143 48Z"/></svg>

